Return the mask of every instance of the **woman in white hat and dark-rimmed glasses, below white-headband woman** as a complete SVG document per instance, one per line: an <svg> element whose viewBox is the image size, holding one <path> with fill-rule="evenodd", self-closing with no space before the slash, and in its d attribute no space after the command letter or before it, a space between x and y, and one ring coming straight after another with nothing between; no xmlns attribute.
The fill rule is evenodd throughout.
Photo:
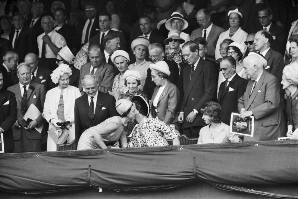
<svg viewBox="0 0 298 199"><path fill-rule="evenodd" d="M228 50L227 50L227 56L228 57L233 57L236 60L236 73L244 78L247 79L247 75L246 73L244 73L244 68L242 65L242 57L243 57L243 53L244 53L244 49L243 46L237 42L232 42L229 46L228 46ZM217 83L217 94L219 92L219 86L220 84L226 81L226 79L224 78L224 75L222 72L219 73L218 75L218 83Z"/></svg>

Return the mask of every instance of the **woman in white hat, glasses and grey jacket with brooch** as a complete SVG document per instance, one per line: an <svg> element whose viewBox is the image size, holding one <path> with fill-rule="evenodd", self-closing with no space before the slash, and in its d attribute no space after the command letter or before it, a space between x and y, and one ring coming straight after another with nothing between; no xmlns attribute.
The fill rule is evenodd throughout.
<svg viewBox="0 0 298 199"><path fill-rule="evenodd" d="M166 124L178 122L179 90L176 85L168 80L171 74L169 66L165 61L150 64L151 80L156 84L151 98L151 115L160 118Z"/></svg>

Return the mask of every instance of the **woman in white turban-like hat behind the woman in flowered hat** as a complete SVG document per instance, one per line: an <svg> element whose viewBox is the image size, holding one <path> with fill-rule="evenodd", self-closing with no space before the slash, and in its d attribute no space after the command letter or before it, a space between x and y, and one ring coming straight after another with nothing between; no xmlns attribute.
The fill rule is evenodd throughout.
<svg viewBox="0 0 298 199"><path fill-rule="evenodd" d="M69 76L69 85L79 87L80 71L74 67L75 56L72 54L67 46L64 46L56 57L56 63L59 66L61 63L67 64L71 70L71 76Z"/></svg>

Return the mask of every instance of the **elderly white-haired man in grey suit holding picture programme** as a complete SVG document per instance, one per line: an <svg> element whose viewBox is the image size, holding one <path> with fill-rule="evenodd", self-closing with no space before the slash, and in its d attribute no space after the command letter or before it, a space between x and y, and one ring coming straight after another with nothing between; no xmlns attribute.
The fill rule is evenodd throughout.
<svg viewBox="0 0 298 199"><path fill-rule="evenodd" d="M264 70L266 60L257 53L249 53L243 60L244 72L251 79L239 99L241 118L255 118L254 137L244 141L277 140L286 135L285 119L280 107L280 81Z"/></svg>

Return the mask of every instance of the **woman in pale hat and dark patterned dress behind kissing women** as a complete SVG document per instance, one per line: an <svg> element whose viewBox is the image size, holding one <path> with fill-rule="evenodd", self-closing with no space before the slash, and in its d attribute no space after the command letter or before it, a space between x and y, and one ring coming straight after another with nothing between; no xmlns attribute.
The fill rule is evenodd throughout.
<svg viewBox="0 0 298 199"><path fill-rule="evenodd" d="M128 91L124 94L121 94L119 99L131 100L133 96L140 95L148 100L147 95L139 89L139 86L141 85L141 75L138 71L127 70L123 75L123 79L124 85L127 86ZM129 121L128 125L124 128L127 136L131 133L135 125L136 121Z"/></svg>

